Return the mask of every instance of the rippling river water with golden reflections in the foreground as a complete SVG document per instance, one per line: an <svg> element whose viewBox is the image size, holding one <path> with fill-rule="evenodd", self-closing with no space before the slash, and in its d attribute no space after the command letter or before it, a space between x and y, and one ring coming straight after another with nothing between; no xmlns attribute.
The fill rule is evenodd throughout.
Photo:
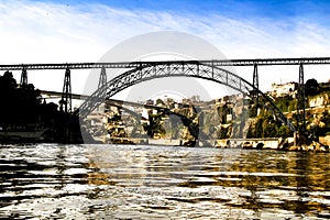
<svg viewBox="0 0 330 220"><path fill-rule="evenodd" d="M330 154L1 145L0 218L330 218Z"/></svg>

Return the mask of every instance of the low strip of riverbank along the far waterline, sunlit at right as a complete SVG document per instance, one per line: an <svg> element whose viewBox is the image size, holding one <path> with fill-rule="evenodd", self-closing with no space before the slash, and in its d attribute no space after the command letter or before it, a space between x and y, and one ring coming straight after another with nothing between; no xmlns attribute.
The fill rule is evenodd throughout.
<svg viewBox="0 0 330 220"><path fill-rule="evenodd" d="M69 139L67 139L69 136ZM94 140L85 132L70 133L68 136L54 135L50 130L40 131L0 131L0 143L68 143L68 144L125 144L125 145L168 145L187 146L180 140L153 140L153 139L111 139L109 141ZM88 138L88 140L87 140ZM321 136L319 141L309 144L295 145L294 138L265 138L265 139L221 139L216 141L198 141L191 146L213 146L217 148L245 148L245 150L279 150L295 152L322 152L329 153L330 136Z"/></svg>

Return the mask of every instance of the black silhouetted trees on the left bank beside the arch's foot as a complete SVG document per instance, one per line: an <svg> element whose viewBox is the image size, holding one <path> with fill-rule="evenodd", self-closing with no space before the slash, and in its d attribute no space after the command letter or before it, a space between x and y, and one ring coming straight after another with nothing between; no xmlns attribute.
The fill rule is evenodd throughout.
<svg viewBox="0 0 330 220"><path fill-rule="evenodd" d="M0 76L0 128L9 131L44 131L45 141L68 141L69 132L79 132L77 118L58 111L58 106L46 103L32 84L18 85L11 72Z"/></svg>

